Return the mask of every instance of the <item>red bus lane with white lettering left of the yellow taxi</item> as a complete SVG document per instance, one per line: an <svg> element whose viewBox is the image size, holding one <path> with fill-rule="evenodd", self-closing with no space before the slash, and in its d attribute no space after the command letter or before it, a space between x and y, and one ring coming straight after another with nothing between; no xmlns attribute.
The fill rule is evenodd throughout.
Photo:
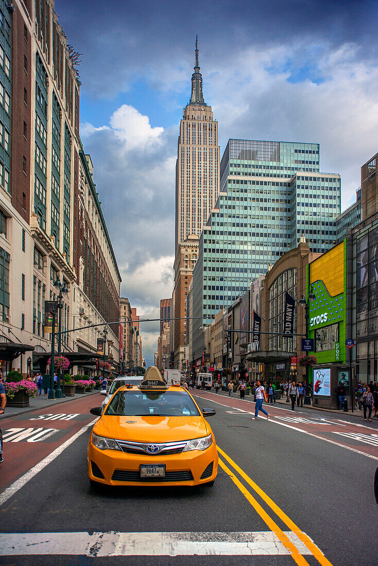
<svg viewBox="0 0 378 566"><path fill-rule="evenodd" d="M93 421L90 409L100 403L100 395L83 395L56 407L2 419L4 461L0 465L0 491Z"/></svg>

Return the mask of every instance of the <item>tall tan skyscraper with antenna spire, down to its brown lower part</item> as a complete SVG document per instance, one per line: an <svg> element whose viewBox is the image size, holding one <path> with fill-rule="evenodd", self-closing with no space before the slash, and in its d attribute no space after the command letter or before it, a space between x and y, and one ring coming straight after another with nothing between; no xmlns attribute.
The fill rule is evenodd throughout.
<svg viewBox="0 0 378 566"><path fill-rule="evenodd" d="M173 314L175 318L181 320L176 320L175 323L175 367L181 367L184 359L185 299L192 279L194 267L192 260L197 259L197 250L194 250L195 239L199 238L219 191L218 122L213 118L211 106L208 106L203 98L202 75L199 68L196 39L192 95L189 104L182 111L177 145Z"/></svg>

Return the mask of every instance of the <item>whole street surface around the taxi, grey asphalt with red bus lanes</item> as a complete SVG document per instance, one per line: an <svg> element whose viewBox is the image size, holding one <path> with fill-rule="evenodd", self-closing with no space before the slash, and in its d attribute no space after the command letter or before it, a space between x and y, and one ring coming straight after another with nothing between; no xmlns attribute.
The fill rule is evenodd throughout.
<svg viewBox="0 0 378 566"><path fill-rule="evenodd" d="M0 564L377 563L377 423L282 406L251 421L249 401L194 395L216 409L213 487L91 488L88 409L100 395L2 421ZM51 554L31 554L44 544ZM158 548L165 554L153 556Z"/></svg>

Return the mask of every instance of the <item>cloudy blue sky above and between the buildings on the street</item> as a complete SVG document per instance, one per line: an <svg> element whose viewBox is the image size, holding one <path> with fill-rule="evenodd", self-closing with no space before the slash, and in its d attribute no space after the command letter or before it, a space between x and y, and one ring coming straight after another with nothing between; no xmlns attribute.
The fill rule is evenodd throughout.
<svg viewBox="0 0 378 566"><path fill-rule="evenodd" d="M205 102L230 138L320 143L342 209L377 152L378 2L56 0L78 67L80 138L122 276L121 296L158 318L172 295L175 163L194 42ZM141 324L154 362L158 323Z"/></svg>

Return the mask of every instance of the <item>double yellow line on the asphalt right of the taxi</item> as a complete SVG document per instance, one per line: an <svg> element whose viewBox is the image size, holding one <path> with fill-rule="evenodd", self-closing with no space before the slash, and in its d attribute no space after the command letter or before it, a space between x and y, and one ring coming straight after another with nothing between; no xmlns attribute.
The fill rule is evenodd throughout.
<svg viewBox="0 0 378 566"><path fill-rule="evenodd" d="M298 536L300 541L303 542L303 544L308 548L311 554L315 556L318 563L321 564L321 566L332 566L330 561L325 558L324 554L319 550L316 544L312 542L311 538L309 538L307 534L303 533L303 531L301 531L299 527L296 526L296 524L286 515L286 513L284 513L282 509L280 509L278 505L276 505L274 501L271 500L270 497L266 495L266 493L262 491L262 489L258 487L258 485L254 483L252 479L250 479L245 471L239 468L239 466L230 458L230 456L227 456L227 454L223 452L223 450L219 448L219 446L217 448L220 456L222 456L224 460L226 460L228 464L230 464L232 468L241 476L241 478L243 478L244 481L248 483L250 487L252 487L253 491L256 492L256 494L259 495L263 501L265 501L265 503L281 519L281 521L288 527L288 529ZM252 507L256 509L257 513L260 515L262 520L265 521L268 528L273 531L275 535L277 535L279 541L281 541L283 546L287 548L298 566L309 566L307 560L305 560L303 555L299 554L298 548L296 548L296 546L290 541L283 530L279 528L277 523L269 516L265 509L261 507L260 503L258 503L252 493L248 491L247 487L245 487L243 483L240 482L235 473L233 473L233 471L231 471L230 468L228 468L228 466L220 458L219 465L226 472L226 474L230 476L233 483L235 483L235 485L244 495L245 499L247 499Z"/></svg>

